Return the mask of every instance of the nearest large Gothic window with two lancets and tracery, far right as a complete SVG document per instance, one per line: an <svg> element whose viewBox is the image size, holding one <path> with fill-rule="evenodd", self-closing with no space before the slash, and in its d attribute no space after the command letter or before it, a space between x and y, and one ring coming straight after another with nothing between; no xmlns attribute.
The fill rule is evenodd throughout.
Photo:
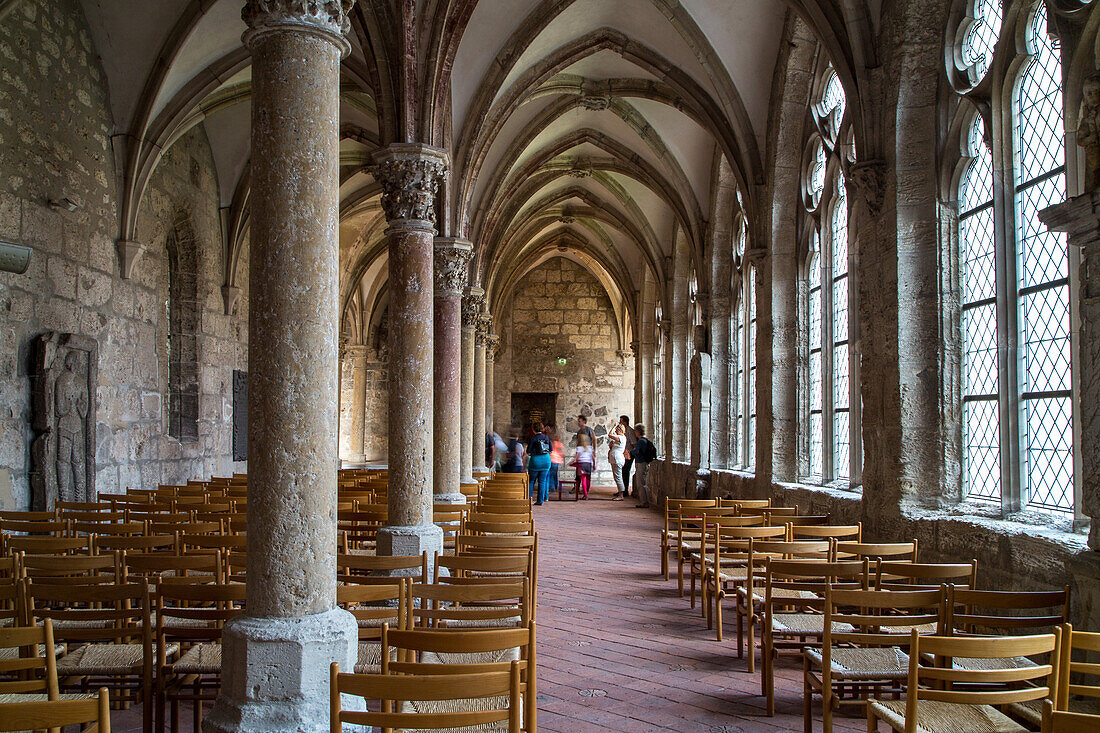
<svg viewBox="0 0 1100 733"><path fill-rule="evenodd" d="M975 107L1011 124L988 124L975 112L963 125L963 491L1003 514L1066 516L1077 507L1079 472L1069 252L1065 236L1038 219L1066 198L1062 58L1041 0L965 8L953 80ZM1009 172L1003 188L993 185L998 161Z"/></svg>

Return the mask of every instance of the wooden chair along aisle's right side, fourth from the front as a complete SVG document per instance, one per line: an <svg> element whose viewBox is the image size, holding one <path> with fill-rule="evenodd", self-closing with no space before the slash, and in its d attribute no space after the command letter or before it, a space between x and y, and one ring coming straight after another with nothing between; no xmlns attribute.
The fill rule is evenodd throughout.
<svg viewBox="0 0 1100 733"><path fill-rule="evenodd" d="M780 528L784 534L787 533L787 527ZM768 561L798 559L827 562L833 559L833 543L825 539L791 541L762 538L754 539L749 545L745 582L735 588L737 594L737 657L745 656L745 648L748 647L749 674L756 671L756 625L763 621ZM813 591L798 590L781 590L780 593L795 598L817 595Z"/></svg>

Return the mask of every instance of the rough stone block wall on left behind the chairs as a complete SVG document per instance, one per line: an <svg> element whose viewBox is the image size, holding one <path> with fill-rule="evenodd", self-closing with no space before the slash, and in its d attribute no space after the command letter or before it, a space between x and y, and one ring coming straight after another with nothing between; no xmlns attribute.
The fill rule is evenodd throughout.
<svg viewBox="0 0 1100 733"><path fill-rule="evenodd" d="M0 25L0 239L34 249L23 275L0 273L0 507L29 505L29 349L47 330L99 342L97 490L226 473L232 370L245 369L248 299L222 314L218 189L206 135L167 151L142 204L145 251L119 277L116 172L106 77L75 2L26 0ZM52 208L67 197L76 210ZM165 242L194 231L198 440L169 438ZM244 261L248 261L245 255ZM246 269L241 284L248 282Z"/></svg>

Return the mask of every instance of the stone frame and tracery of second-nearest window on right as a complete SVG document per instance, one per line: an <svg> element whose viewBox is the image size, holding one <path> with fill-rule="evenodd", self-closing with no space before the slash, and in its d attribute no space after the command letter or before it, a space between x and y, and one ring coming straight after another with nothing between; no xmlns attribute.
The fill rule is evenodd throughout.
<svg viewBox="0 0 1100 733"><path fill-rule="evenodd" d="M806 294L800 304L805 328L802 329L800 350L806 359L806 369L800 385L800 446L802 456L799 461L802 475L800 480L810 485L828 486L845 491L857 491L862 474L862 449L860 440L861 396L859 389L859 352L858 344L858 309L853 295L858 292L858 269L853 262L851 242L855 241L851 222L851 207L845 208L844 230L847 232L845 249L847 252L847 272L834 277L834 251L836 243L834 233L837 231L835 219L842 200L847 199L846 169L854 162L854 146L850 116L846 109L838 110L827 103L831 90L835 91L836 70L827 57L818 58L814 73L811 101L807 106L806 135L803 145L803 162L801 176L802 217L800 273L805 285L801 288ZM811 348L810 339L810 297L811 297L811 260L816 256L820 274L820 349ZM834 339L836 322L835 286L839 281L847 284L847 339L843 342ZM847 350L848 404L837 407L836 403L836 358L839 347ZM810 360L813 352L820 353L821 362L821 409L813 409L813 390L811 383ZM836 440L838 415L844 414L848 423L847 461L842 461L842 447ZM821 423L821 470L814 472L812 415L820 415ZM838 463L846 462L843 470Z"/></svg>

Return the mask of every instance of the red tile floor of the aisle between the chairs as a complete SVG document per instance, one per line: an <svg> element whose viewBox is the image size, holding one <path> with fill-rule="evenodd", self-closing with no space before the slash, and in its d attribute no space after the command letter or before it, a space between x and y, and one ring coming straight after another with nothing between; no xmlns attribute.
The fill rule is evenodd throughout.
<svg viewBox="0 0 1100 733"><path fill-rule="evenodd" d="M802 667L780 659L776 716L763 714L759 672L737 658L735 627L714 632L675 580L659 575L661 518L612 502L597 489L586 502L535 507L539 533L539 726L544 733L802 731ZM820 703L814 730L821 730ZM140 710L114 713L117 733L141 731ZM186 713L182 723L189 730ZM839 716L838 733L866 731Z"/></svg>

